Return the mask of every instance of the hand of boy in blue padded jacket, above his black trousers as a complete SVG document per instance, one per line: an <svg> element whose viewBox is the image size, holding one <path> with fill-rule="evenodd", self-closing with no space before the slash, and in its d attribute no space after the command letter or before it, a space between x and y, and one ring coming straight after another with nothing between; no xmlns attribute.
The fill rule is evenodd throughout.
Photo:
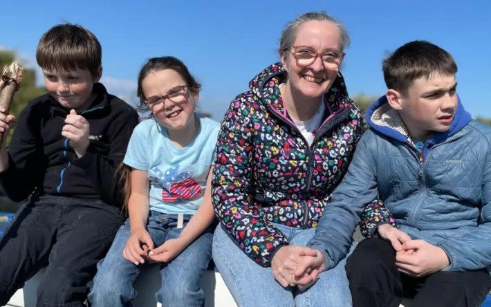
<svg viewBox="0 0 491 307"><path fill-rule="evenodd" d="M413 277L432 274L449 265L447 253L424 240L407 241L402 244L402 251L396 253L398 270Z"/></svg>

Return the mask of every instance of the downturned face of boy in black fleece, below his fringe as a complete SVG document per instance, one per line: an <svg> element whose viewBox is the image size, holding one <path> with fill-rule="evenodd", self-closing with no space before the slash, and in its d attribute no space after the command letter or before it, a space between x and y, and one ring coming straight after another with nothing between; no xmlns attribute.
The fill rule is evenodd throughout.
<svg viewBox="0 0 491 307"><path fill-rule="evenodd" d="M95 76L88 69L71 71L49 71L43 69L44 86L55 100L66 109L75 109L77 113L87 109L92 103L92 88L99 82L102 68Z"/></svg>

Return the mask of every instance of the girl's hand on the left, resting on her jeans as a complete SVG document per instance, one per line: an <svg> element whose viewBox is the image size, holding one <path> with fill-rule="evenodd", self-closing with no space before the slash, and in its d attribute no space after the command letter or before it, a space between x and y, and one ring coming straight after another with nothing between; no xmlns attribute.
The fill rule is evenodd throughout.
<svg viewBox="0 0 491 307"><path fill-rule="evenodd" d="M145 263L145 259L148 259L147 250L152 248L154 248L154 241L151 240L150 234L145 228L138 228L131 231L122 255L124 259L138 266L140 263Z"/></svg>

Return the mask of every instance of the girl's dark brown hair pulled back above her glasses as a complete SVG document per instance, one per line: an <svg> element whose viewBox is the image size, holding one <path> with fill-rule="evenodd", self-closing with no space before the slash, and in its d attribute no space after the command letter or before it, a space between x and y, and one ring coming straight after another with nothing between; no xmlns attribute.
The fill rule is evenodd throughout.
<svg viewBox="0 0 491 307"><path fill-rule="evenodd" d="M172 69L176 71L181 77L183 77L189 90L193 95L197 95L201 89L201 84L199 84L196 79L189 73L185 64L177 59L176 57L166 56L166 57L152 57L149 59L140 70L138 74L138 89L136 90L136 95L140 98L139 109L148 109L145 104L145 93L142 89L142 81L153 71L162 71L163 69Z"/></svg>

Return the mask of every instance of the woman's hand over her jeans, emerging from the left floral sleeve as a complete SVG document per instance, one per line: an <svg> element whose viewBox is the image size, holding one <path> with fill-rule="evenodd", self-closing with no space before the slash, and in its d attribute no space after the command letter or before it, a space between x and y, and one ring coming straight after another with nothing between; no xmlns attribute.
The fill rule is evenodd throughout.
<svg viewBox="0 0 491 307"><path fill-rule="evenodd" d="M316 250L303 246L285 245L279 248L271 261L273 277L285 288L295 286L297 281L294 272L302 262L302 257L315 257L316 254Z"/></svg>

